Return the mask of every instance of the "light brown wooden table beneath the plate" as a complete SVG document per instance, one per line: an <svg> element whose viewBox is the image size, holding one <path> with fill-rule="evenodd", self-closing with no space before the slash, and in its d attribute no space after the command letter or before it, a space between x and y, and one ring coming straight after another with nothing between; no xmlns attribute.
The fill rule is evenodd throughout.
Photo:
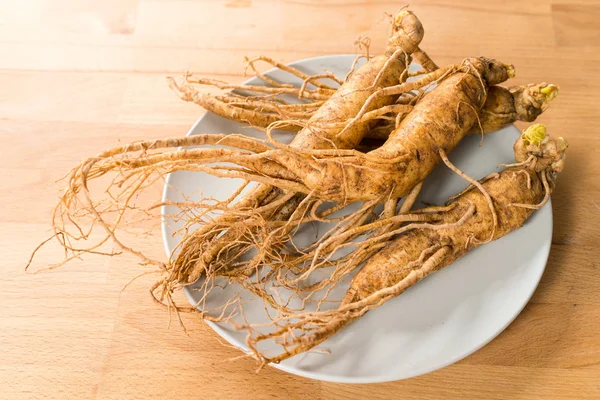
<svg viewBox="0 0 600 400"><path fill-rule="evenodd" d="M594 0L415 1L423 47L439 63L486 55L516 83L561 93L541 121L570 143L553 195L550 260L533 299L470 357L406 381L311 381L219 344L195 316L187 337L127 283L132 257L89 256L27 275L48 236L55 180L117 141L183 135L201 115L167 88L185 70L241 82L243 56L284 62L380 51L397 2L20 0L0 5L0 397L7 399L600 398L600 7ZM312 27L319 27L313 29ZM599 153L597 153L599 152ZM139 241L160 254L160 240ZM42 255L39 264L60 258Z"/></svg>

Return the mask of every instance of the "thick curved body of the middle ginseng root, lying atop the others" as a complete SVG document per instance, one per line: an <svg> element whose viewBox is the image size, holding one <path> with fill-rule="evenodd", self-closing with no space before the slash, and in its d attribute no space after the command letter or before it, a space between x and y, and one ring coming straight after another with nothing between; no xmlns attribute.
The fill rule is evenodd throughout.
<svg viewBox="0 0 600 400"><path fill-rule="evenodd" d="M439 148L451 151L477 123L487 85L511 73L502 63L470 59L464 71L452 73L426 94L384 145L366 155L309 160L288 153L271 159L285 165L318 198L347 202L402 197L441 160Z"/></svg>

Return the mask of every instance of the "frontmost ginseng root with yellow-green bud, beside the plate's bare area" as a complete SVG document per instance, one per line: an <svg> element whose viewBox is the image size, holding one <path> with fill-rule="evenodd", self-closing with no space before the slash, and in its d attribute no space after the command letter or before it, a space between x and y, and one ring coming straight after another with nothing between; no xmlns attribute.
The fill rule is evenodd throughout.
<svg viewBox="0 0 600 400"><path fill-rule="evenodd" d="M254 355L264 365L306 352L470 250L518 229L547 201L564 167L566 148L564 139L548 140L543 126L531 126L515 143L516 164L471 186L452 200L452 209L432 209L440 217L438 222L409 225L410 230L390 240L353 278L337 309L280 313L273 319L274 331L249 336L247 344ZM261 354L256 346L264 340L275 340L284 351Z"/></svg>

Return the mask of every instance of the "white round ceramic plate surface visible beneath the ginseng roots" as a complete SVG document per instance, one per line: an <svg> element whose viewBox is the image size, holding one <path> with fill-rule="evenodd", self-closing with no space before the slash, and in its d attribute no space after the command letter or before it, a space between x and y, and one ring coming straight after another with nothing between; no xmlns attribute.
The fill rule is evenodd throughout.
<svg viewBox="0 0 600 400"><path fill-rule="evenodd" d="M353 59L352 55L325 56L292 65L309 74L327 68L343 78ZM298 83L278 70L270 75ZM248 83L260 81L251 79ZM211 113L200 118L188 135L222 132L263 137L259 131L242 128L241 124ZM512 145L518 135L518 130L510 126L487 135L482 147L480 137L467 137L450 158L470 176L481 178L497 171L499 164L514 161ZM291 135L281 135L279 139L289 141ZM204 173L177 172L168 177L164 198L181 200L181 193L198 198L201 191L204 196L225 199L240 182ZM442 204L466 185L440 165L427 179L415 206L422 207L421 201ZM163 210L165 215L174 211L172 207ZM180 240L172 235L172 229L178 226L174 221L163 223L168 254ZM301 234L314 235L314 231ZM330 355L305 353L275 367L313 379L368 383L405 379L452 364L487 344L521 312L544 272L551 236L549 203L520 230L475 249L321 344L319 347L329 350ZM227 295L227 291L219 293L217 296ZM197 292L187 288L186 295L192 304L196 303ZM245 313L250 322L264 320L261 302L250 302ZM209 324L231 344L246 348L245 332L236 332L229 325Z"/></svg>

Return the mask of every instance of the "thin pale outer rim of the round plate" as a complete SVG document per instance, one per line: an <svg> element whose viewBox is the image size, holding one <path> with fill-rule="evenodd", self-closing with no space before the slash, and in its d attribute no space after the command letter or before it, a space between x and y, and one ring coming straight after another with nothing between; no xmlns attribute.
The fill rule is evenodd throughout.
<svg viewBox="0 0 600 400"><path fill-rule="evenodd" d="M323 59L331 59L331 58L335 59L335 58L345 58L345 57L356 57L356 54L343 53L343 54L320 55L320 56L316 56L316 57L308 57L308 58L295 60L293 62L287 63L286 65L294 66L297 64L303 64L305 62L310 62L310 61L314 62L314 61L319 61L319 60L323 60ZM268 74L268 73L271 73L271 72L274 72L277 70L279 70L279 68L271 68L271 69L265 71L264 74ZM249 84L253 79L255 79L255 77L247 79L242 84ZM211 113L210 111L205 111L204 114L202 114L202 116L200 116L196 120L196 122L188 130L188 132L185 134L185 136L186 137L192 136L193 132L196 130L198 125L200 125L202 123L202 121L204 120L204 118L206 118L207 115L209 115L209 114L214 114L214 113ZM518 129L518 128L516 128L516 126L514 124L511 124L511 125L513 127L515 127L515 129ZM181 147L179 147L178 149L181 149ZM165 179L165 184L164 184L163 192L162 192L162 201L165 201L167 199L167 194L168 194L168 189L169 189L170 182L171 182L171 177L172 177L172 173L169 173ZM267 365L270 367L276 368L278 370L293 374L293 375L302 376L304 378L314 379L314 380L323 381L323 382L349 383L349 384L385 383L385 382L406 380L406 379L414 378L417 376L425 375L427 373L434 372L434 371L440 370L442 368L445 368L449 365L452 365L452 364L470 356L471 354L474 354L475 352L479 351L480 349L482 349L483 347L488 345L492 340L497 338L502 332L504 332L506 330L506 328L508 328L508 326L510 326L515 321L515 319L519 315L521 315L521 313L523 312L523 310L525 309L527 304L529 304L531 298L533 297L535 291L537 290L537 288L540 284L540 281L541 281L541 279L544 275L544 272L546 271L546 267L548 265L548 258L550 255L550 249L552 247L552 235L554 232L554 213L552 211L552 199L548 200L548 203L544 206L544 208L550 209L550 213L549 213L550 230L547 232L547 235L549 236L549 238L545 241L544 246L538 249L538 251L540 252L540 255L543 255L543 257L544 257L544 266L540 269L538 276L535 277L535 284L532 285L530 293L527 294L526 300L519 307L519 309L515 313L515 315L513 315L512 318L509 318L501 328L499 328L495 333L490 335L489 338L482 341L475 348L473 348L467 352L460 353L456 357L451 358L450 360L445 360L444 362L442 362L438 365L435 365L434 367L425 368L422 371L417 370L413 374L408 374L406 376L402 376L399 378L390 378L390 377L386 377L386 376L382 376L382 375L367 376L367 377L345 377L345 376L339 376L339 375L330 375L330 374L319 373L319 372L305 371L305 370L298 369L295 367L289 367L285 364L267 364ZM163 248L165 250L167 257L169 257L171 255L171 252L169 251L169 246L168 246L168 239L167 239L168 233L167 233L167 224L165 223L165 219L164 219L164 217L165 217L164 206L161 207L160 214L161 214L161 238L163 241ZM195 301L193 301L193 297L192 297L192 294L190 293L190 289L188 289L187 286L184 286L183 292L185 294L186 299L190 302L190 304L194 305ZM243 351L244 353L248 353L248 351L246 349L244 349L243 347L240 346L239 341L237 341L236 339L231 337L231 335L225 329L221 328L217 323L212 322L212 321L207 321L207 320L204 320L204 322L206 324L208 324L208 326L210 326L211 329L213 329L219 336L221 336L223 339L225 339L229 344L235 346L236 348L238 348L240 351Z"/></svg>

